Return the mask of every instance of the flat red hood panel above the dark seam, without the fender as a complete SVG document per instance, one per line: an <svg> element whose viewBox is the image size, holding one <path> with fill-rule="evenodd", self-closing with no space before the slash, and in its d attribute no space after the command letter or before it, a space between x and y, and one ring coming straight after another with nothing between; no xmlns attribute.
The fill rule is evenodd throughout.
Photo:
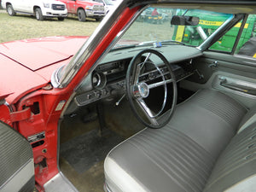
<svg viewBox="0 0 256 192"><path fill-rule="evenodd" d="M0 44L0 53L35 72L67 60L82 44L80 37L33 38Z"/></svg>

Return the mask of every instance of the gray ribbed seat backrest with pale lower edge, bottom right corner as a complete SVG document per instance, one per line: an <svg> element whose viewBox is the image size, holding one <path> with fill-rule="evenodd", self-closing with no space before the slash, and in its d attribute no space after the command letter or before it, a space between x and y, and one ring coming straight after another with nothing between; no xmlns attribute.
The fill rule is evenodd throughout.
<svg viewBox="0 0 256 192"><path fill-rule="evenodd" d="M232 138L219 156L204 192L256 190L256 122Z"/></svg>

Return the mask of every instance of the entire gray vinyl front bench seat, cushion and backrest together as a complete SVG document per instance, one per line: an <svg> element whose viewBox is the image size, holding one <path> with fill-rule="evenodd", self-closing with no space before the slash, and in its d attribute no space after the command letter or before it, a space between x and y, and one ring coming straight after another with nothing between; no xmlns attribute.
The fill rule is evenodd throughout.
<svg viewBox="0 0 256 192"><path fill-rule="evenodd" d="M236 134L246 114L223 93L198 91L177 107L165 127L146 128L113 148L104 163L106 190L229 189L256 174L256 125Z"/></svg>

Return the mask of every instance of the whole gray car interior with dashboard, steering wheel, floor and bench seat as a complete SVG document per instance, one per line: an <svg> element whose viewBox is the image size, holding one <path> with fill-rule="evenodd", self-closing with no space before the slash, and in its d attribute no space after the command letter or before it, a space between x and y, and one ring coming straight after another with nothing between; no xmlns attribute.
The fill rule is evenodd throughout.
<svg viewBox="0 0 256 192"><path fill-rule="evenodd" d="M110 50L62 116L60 170L79 191L253 191L255 74L184 44Z"/></svg>

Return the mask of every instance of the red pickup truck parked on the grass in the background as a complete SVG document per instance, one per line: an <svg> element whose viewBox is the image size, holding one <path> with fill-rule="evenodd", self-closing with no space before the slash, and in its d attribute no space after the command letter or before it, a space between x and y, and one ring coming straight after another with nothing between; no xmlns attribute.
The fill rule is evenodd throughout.
<svg viewBox="0 0 256 192"><path fill-rule="evenodd" d="M67 5L68 14L77 15L80 21L86 18L101 21L106 15L104 5L92 0L58 0Z"/></svg>

